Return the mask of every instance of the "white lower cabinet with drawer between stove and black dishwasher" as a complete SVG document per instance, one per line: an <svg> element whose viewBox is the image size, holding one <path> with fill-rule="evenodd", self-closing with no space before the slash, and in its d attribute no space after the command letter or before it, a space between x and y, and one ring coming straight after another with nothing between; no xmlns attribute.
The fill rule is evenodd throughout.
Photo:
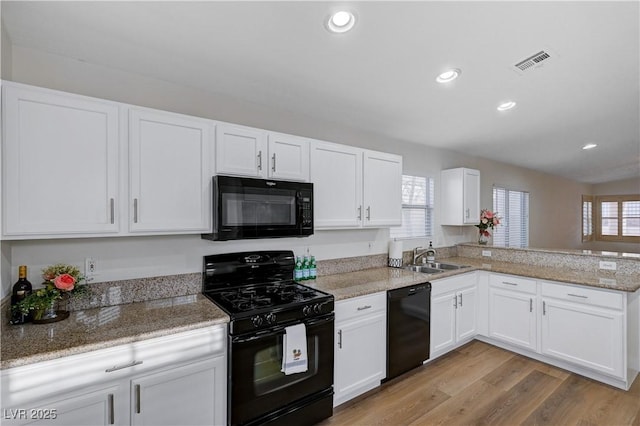
<svg viewBox="0 0 640 426"><path fill-rule="evenodd" d="M387 293L339 301L335 314L334 407L386 377Z"/></svg>

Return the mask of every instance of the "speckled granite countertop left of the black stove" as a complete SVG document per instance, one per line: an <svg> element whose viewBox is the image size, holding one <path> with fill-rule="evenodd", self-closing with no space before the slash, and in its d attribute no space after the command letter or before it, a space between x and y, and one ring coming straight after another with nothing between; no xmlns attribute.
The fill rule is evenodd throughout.
<svg viewBox="0 0 640 426"><path fill-rule="evenodd" d="M200 294L75 311L51 324L3 321L0 369L227 322L229 317Z"/></svg>

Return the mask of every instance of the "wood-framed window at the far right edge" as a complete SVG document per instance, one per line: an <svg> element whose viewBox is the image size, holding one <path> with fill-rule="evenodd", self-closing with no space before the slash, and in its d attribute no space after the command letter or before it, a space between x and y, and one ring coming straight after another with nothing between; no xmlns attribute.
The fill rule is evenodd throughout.
<svg viewBox="0 0 640 426"><path fill-rule="evenodd" d="M596 197L596 239L640 242L640 195Z"/></svg>

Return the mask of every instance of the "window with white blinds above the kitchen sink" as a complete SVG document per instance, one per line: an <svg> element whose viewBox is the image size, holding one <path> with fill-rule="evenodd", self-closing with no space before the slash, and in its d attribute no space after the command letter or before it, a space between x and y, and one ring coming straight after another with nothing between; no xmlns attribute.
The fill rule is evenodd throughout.
<svg viewBox="0 0 640 426"><path fill-rule="evenodd" d="M390 229L391 238L433 235L433 179L402 176L402 226Z"/></svg>

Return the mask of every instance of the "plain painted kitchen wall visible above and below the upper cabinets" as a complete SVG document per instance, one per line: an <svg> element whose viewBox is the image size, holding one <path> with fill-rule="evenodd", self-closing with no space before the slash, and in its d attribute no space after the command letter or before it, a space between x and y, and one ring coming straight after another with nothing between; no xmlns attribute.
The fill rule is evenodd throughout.
<svg viewBox="0 0 640 426"><path fill-rule="evenodd" d="M406 174L436 179L436 206L440 198L439 173L452 167L477 168L481 172L481 206L491 208L492 185L531 192L531 245L579 248L581 195L590 185L572 182L490 159L391 140L362 130L322 122L295 112L250 104L215 93L178 86L118 69L13 46L11 73L14 81L88 96L184 114L235 122L284 133L401 154ZM549 206L554 206L552 212ZM436 211L434 245L445 246L476 238L475 227L440 227ZM386 253L388 230L318 231L305 239L257 240L213 243L199 236L135 237L73 240L34 240L7 243L12 277L20 264L30 265L30 280L39 282L39 270L50 263L83 265L91 256L101 272L96 281L150 275L199 272L202 255L268 248L290 248L303 253L307 247L318 259ZM405 242L405 250L428 240ZM4 254L4 253L3 253ZM33 274L33 276L32 276ZM6 283L3 280L3 283ZM3 290L7 288L3 284Z"/></svg>

